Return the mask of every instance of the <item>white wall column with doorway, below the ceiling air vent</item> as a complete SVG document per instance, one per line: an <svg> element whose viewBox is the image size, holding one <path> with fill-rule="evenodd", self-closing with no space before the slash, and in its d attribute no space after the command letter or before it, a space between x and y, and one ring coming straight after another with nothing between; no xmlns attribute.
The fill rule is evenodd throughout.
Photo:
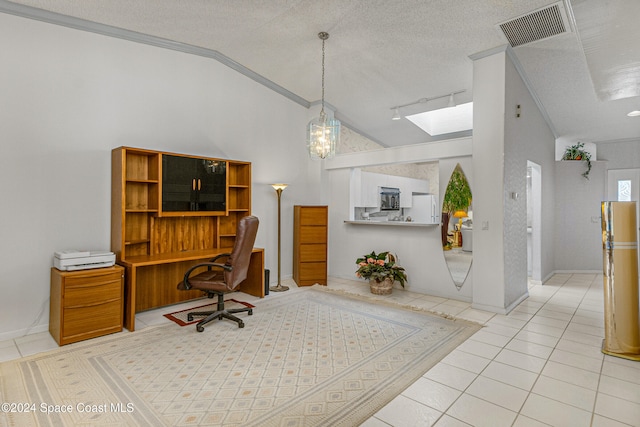
<svg viewBox="0 0 640 427"><path fill-rule="evenodd" d="M513 61L508 51L474 61L473 303L496 312L527 295L527 160L542 171L543 277L554 269L555 139Z"/></svg>

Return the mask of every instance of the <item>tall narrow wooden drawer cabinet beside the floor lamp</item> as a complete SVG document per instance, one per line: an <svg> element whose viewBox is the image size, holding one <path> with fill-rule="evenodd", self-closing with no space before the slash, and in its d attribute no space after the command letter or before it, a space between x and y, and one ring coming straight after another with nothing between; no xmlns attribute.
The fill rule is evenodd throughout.
<svg viewBox="0 0 640 427"><path fill-rule="evenodd" d="M293 280L298 286L327 285L327 206L293 207Z"/></svg>

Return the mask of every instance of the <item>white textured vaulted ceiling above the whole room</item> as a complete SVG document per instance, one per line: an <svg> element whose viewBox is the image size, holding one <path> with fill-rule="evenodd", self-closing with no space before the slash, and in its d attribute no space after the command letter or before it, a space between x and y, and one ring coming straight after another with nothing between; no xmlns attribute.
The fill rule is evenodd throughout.
<svg viewBox="0 0 640 427"><path fill-rule="evenodd" d="M326 101L387 145L433 140L391 107L465 90L470 55L506 44L496 25L549 0L18 0L13 3L217 51L309 102L318 101L327 31ZM565 3L576 30L513 49L561 140L640 138L638 0ZM573 21L573 20L571 20ZM407 107L405 115L446 106Z"/></svg>

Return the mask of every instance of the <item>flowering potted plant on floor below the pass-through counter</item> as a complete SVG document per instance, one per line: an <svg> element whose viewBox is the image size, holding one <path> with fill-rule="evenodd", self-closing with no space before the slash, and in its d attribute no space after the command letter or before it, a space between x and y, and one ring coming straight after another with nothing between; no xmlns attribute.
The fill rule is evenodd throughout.
<svg viewBox="0 0 640 427"><path fill-rule="evenodd" d="M356 276L369 280L373 294L389 295L396 281L400 282L403 288L407 281L404 268L396 263L396 256L389 252L371 252L356 259L356 264Z"/></svg>

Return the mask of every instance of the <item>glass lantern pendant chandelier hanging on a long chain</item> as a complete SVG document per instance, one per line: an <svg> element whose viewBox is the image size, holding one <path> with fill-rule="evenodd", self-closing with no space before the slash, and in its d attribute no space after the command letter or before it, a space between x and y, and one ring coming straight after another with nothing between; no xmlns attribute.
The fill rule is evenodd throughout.
<svg viewBox="0 0 640 427"><path fill-rule="evenodd" d="M329 33L318 33L322 40L322 108L320 116L307 126L307 148L312 159L328 159L336 154L336 145L340 142L340 121L328 118L324 112L324 42Z"/></svg>

